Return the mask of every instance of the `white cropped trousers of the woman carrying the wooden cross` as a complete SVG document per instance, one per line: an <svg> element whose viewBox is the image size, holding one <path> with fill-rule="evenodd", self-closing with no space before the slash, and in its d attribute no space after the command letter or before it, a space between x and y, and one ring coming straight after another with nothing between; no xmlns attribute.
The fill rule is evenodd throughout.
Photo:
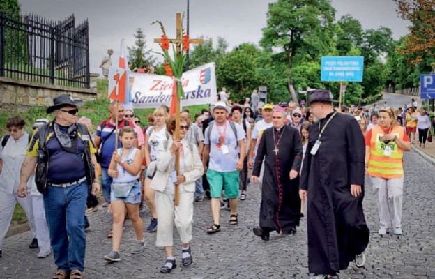
<svg viewBox="0 0 435 279"><path fill-rule="evenodd" d="M181 243L192 239L193 192L180 194L178 206L174 205L174 195L155 191L155 211L157 213L157 236L155 246L173 246L174 223L180 234Z"/></svg>

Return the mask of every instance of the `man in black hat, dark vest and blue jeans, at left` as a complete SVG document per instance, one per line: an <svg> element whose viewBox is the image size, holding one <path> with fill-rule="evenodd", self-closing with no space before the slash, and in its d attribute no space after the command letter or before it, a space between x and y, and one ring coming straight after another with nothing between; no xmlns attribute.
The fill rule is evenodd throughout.
<svg viewBox="0 0 435 279"><path fill-rule="evenodd" d="M47 113L54 120L40 126L29 143L17 195L27 195L27 181L36 167L36 186L43 194L45 215L57 272L53 278L83 278L86 234L84 209L88 187L97 195L100 184L95 153L86 126L77 123L79 105L69 94L57 96Z"/></svg>

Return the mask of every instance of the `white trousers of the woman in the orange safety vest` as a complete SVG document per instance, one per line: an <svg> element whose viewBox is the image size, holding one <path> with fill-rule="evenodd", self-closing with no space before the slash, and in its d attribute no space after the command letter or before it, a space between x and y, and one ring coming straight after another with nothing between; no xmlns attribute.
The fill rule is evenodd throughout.
<svg viewBox="0 0 435 279"><path fill-rule="evenodd" d="M379 209L379 227L401 227L403 204L403 176L400 179L381 179L370 176Z"/></svg>

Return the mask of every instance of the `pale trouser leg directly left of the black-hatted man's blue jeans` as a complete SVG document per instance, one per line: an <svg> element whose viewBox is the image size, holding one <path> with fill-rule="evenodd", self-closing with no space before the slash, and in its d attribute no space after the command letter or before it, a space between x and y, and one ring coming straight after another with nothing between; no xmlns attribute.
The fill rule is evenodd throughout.
<svg viewBox="0 0 435 279"><path fill-rule="evenodd" d="M43 196L32 196L33 215L35 216L36 236L38 237L39 250L47 252L51 249L49 229L45 219Z"/></svg>

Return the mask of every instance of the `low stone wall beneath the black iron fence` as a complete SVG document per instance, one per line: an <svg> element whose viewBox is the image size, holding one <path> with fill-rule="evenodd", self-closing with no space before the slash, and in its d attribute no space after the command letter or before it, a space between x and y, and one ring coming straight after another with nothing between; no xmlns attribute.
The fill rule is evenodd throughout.
<svg viewBox="0 0 435 279"><path fill-rule="evenodd" d="M8 77L0 77L0 105L3 107L49 106L53 104L53 98L63 93L68 93L74 98L81 100L96 100L96 78L91 74L91 88L79 89L52 84L40 84L14 80Z"/></svg>

